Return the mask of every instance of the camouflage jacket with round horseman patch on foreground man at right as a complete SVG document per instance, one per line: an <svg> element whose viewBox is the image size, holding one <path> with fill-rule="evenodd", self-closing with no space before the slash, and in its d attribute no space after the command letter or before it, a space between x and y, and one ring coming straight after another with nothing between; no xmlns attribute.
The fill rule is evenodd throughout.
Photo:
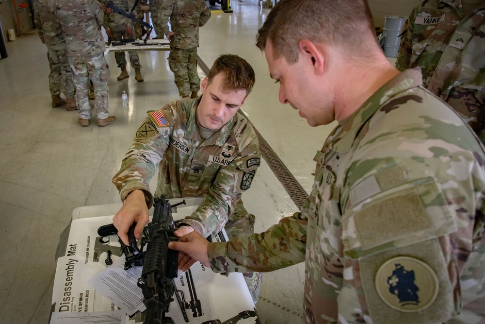
<svg viewBox="0 0 485 324"><path fill-rule="evenodd" d="M339 122L314 160L302 212L210 243L215 272L305 260L305 323L483 321L484 148L419 69Z"/></svg>

